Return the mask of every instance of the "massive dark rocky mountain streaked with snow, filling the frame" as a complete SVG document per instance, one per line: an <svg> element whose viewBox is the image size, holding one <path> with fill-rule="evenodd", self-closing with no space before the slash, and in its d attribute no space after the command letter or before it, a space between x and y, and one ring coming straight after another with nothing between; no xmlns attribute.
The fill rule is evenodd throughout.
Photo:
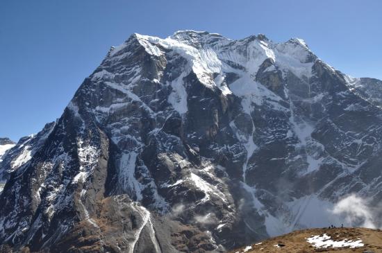
<svg viewBox="0 0 382 253"><path fill-rule="evenodd" d="M380 84L299 39L131 35L56 123L8 152L0 243L224 252L346 224L328 211L340 198L382 197Z"/></svg>

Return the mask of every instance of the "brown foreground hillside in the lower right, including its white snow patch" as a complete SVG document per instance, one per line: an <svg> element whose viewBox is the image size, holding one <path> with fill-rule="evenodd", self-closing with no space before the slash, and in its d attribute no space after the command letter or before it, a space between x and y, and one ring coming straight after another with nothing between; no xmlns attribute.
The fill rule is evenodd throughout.
<svg viewBox="0 0 382 253"><path fill-rule="evenodd" d="M326 235L326 236L324 236ZM316 237L314 237L316 236ZM326 238L319 245L335 244L337 247L319 246L312 238ZM330 236L330 238L328 238ZM310 239L310 240L309 240ZM316 241L309 243L308 241ZM270 238L266 241L242 247L233 252L253 253L253 252L283 252L283 253L303 253L303 252L362 252L379 253L382 252L382 231L380 229L366 228L335 228L335 229L306 229L283 236Z"/></svg>

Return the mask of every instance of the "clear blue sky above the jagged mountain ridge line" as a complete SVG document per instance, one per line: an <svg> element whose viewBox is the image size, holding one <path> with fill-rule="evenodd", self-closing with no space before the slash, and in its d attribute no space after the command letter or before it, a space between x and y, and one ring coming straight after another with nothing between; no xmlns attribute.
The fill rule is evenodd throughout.
<svg viewBox="0 0 382 253"><path fill-rule="evenodd" d="M131 33L300 37L336 69L382 79L381 10L380 0L1 0L0 137L17 141L60 117L110 46Z"/></svg>

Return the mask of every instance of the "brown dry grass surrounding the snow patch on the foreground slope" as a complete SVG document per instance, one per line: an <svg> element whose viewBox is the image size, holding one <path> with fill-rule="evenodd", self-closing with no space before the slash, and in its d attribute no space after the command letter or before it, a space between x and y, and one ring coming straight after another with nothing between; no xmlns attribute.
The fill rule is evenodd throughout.
<svg viewBox="0 0 382 253"><path fill-rule="evenodd" d="M306 238L327 234L334 241L342 241L353 239L354 241L360 238L365 244L364 247L351 249L349 247L342 248L327 248L317 249L306 242ZM275 247L278 243L285 245L284 247ZM244 249L234 250L233 252L243 252ZM335 252L335 253L363 253L373 252L382 253L382 230L380 229L365 229L365 228L335 228L335 229L306 229L292 232L283 236L277 236L261 242L258 245L252 245L252 250L247 253L262 252L262 253L308 253L308 252Z"/></svg>

